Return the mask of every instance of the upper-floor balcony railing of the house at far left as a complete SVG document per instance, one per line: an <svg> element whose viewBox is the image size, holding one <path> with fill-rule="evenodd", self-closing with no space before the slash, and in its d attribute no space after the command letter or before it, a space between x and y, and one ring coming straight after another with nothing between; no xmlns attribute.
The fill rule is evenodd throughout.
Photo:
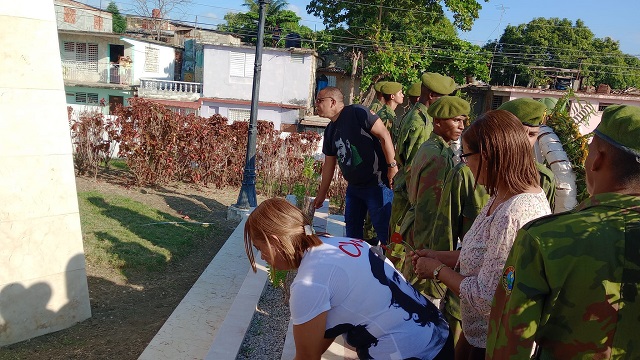
<svg viewBox="0 0 640 360"><path fill-rule="evenodd" d="M65 81L131 85L133 69L109 62L62 60Z"/></svg>

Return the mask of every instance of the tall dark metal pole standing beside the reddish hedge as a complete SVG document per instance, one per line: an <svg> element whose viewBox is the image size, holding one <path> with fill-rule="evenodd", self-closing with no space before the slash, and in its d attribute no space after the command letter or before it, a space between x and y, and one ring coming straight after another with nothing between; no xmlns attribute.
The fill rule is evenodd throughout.
<svg viewBox="0 0 640 360"><path fill-rule="evenodd" d="M239 209L249 209L258 206L256 196L256 138L258 137L258 97L260 95L260 73L262 71L262 43L264 41L265 7L271 0L258 1L258 42L256 43L256 59L253 67L253 92L251 94L251 114L249 115L249 136L247 140L247 155L244 173L242 174L242 188L238 195L238 202L234 205Z"/></svg>

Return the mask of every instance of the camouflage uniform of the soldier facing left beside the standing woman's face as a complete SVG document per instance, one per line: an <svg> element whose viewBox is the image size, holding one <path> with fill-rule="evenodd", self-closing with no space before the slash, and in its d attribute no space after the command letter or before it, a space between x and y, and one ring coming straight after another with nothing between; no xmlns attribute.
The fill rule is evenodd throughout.
<svg viewBox="0 0 640 360"><path fill-rule="evenodd" d="M402 220L400 233L415 250L429 248L429 238L433 233L444 179L452 168L453 151L442 137L432 133L429 140L420 146L411 162L411 167L405 169L410 176L407 182L407 193L412 206ZM416 289L424 294L436 298L442 297L438 292L439 288L432 288L432 281L418 280L411 261L405 259L402 273Z"/></svg>

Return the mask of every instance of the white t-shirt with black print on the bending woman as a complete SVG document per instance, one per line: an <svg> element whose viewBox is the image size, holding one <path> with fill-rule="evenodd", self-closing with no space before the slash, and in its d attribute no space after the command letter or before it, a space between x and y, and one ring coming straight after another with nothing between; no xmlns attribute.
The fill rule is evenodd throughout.
<svg viewBox="0 0 640 360"><path fill-rule="evenodd" d="M362 240L321 237L291 285L291 317L327 311L326 338L343 335L361 359L433 359L449 329L438 309Z"/></svg>

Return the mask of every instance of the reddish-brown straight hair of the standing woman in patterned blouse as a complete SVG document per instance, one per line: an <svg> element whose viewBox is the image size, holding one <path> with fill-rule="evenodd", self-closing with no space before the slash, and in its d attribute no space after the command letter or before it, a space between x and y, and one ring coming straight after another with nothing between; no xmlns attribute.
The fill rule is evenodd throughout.
<svg viewBox="0 0 640 360"><path fill-rule="evenodd" d="M488 111L464 131L462 138L469 147L465 152L480 154L478 171L486 162L485 187L489 195L497 193L498 184L504 184L513 194L539 185L531 144L515 115L505 110Z"/></svg>

